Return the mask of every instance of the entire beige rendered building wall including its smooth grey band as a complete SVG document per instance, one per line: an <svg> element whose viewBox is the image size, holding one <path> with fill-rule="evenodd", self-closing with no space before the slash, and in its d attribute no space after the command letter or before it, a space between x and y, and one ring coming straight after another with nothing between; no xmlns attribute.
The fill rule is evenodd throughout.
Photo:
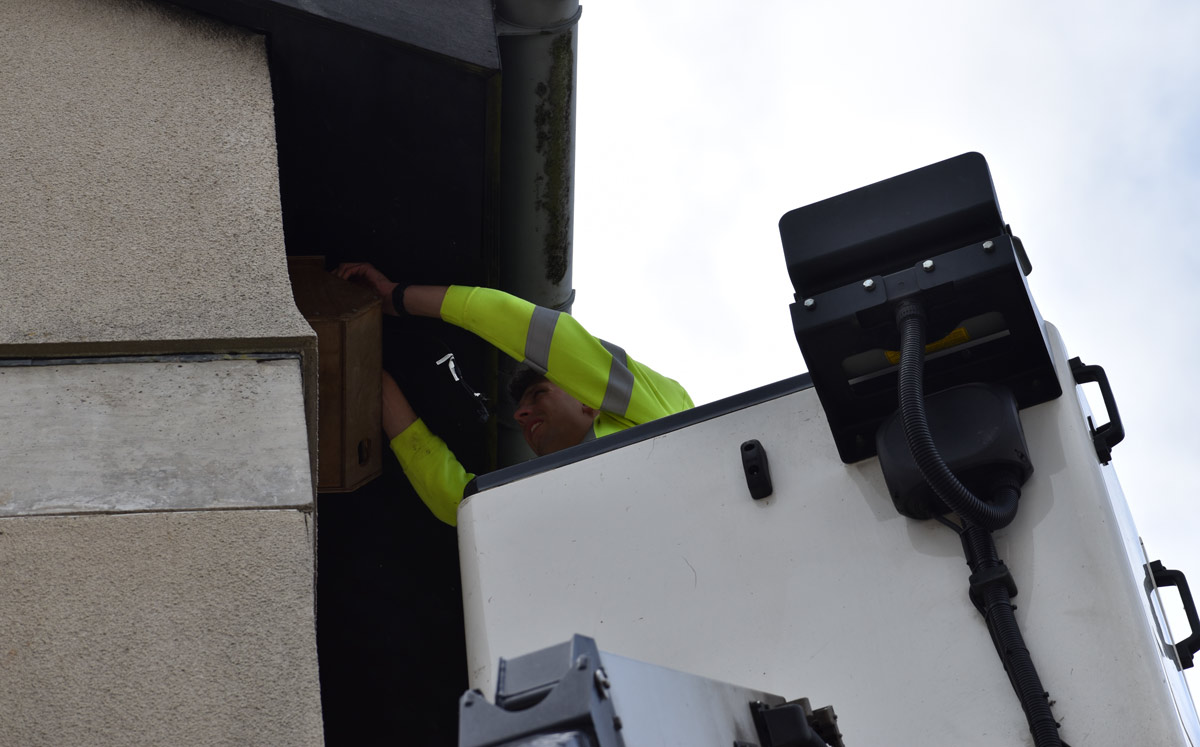
<svg viewBox="0 0 1200 747"><path fill-rule="evenodd" d="M264 38L0 0L0 742L317 745Z"/></svg>

